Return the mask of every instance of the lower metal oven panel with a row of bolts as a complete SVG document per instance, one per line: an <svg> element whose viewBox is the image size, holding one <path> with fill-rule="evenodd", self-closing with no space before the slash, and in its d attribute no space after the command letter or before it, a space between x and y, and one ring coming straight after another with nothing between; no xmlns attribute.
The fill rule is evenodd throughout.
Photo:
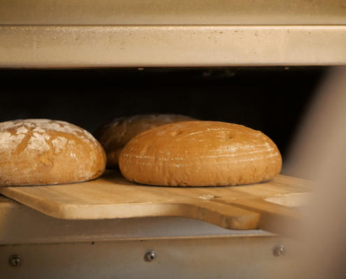
<svg viewBox="0 0 346 279"><path fill-rule="evenodd" d="M273 247L287 247L284 257L274 257ZM0 246L1 278L289 278L284 271L298 263L296 243L276 236L147 241L92 241ZM155 250L148 263L145 252ZM22 266L8 264L21 255Z"/></svg>

